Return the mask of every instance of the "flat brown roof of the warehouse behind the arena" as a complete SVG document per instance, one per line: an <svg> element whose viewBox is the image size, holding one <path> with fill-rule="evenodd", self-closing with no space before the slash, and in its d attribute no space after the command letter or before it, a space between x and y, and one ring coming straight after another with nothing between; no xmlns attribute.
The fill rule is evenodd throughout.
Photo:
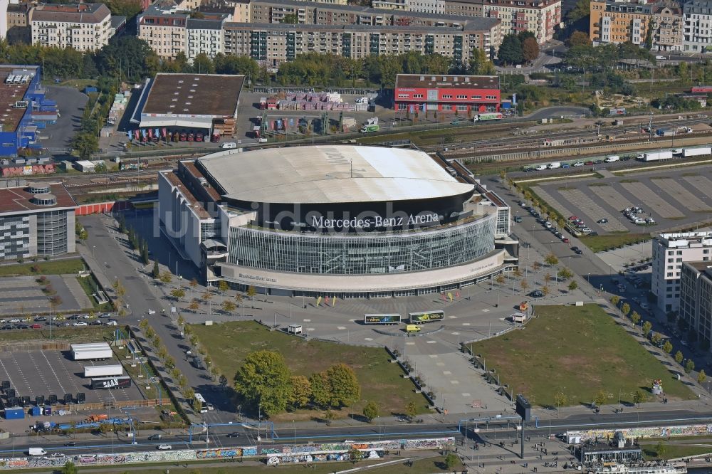
<svg viewBox="0 0 712 474"><path fill-rule="evenodd" d="M234 117L244 75L159 73L142 114Z"/></svg>

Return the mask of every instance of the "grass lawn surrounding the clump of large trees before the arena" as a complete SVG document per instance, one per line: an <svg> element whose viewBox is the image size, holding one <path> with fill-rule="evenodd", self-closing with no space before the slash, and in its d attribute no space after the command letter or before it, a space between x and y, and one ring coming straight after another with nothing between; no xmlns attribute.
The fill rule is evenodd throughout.
<svg viewBox="0 0 712 474"><path fill-rule="evenodd" d="M355 413L360 414L366 401L379 404L381 416L402 414L409 401L414 401L419 413L427 413L426 400L416 394L414 385L402 378L402 370L389 362L384 349L378 347L357 347L311 340L309 342L286 335L270 332L256 322L225 322L214 326L193 325L194 334L207 349L213 363L222 374L232 380L241 362L249 352L273 349L283 354L287 365L294 374L309 376L321 372L333 364L343 362L356 372L361 384L361 400L355 405ZM337 416L350 416L351 407L342 409ZM321 413L300 410L287 414L286 421L305 419ZM279 421L280 416L273 416Z"/></svg>

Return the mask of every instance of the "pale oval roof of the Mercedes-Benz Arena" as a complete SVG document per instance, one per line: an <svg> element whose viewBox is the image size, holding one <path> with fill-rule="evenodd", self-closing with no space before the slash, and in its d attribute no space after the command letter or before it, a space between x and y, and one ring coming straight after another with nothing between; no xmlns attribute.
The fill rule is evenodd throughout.
<svg viewBox="0 0 712 474"><path fill-rule="evenodd" d="M473 191L412 149L323 145L219 152L197 163L226 199L328 204L436 199Z"/></svg>

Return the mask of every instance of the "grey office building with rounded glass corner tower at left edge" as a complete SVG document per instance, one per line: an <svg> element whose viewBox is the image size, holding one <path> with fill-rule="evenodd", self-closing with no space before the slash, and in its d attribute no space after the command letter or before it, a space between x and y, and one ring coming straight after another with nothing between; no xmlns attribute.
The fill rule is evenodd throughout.
<svg viewBox="0 0 712 474"><path fill-rule="evenodd" d="M61 183L0 189L0 260L74 253L74 208Z"/></svg>

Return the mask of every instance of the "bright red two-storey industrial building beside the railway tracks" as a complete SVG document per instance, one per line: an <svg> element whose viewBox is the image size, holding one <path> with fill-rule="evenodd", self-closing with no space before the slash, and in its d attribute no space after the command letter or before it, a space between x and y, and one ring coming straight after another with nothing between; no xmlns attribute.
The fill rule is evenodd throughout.
<svg viewBox="0 0 712 474"><path fill-rule="evenodd" d="M396 110L499 112L499 78L496 75L399 74L393 96Z"/></svg>

